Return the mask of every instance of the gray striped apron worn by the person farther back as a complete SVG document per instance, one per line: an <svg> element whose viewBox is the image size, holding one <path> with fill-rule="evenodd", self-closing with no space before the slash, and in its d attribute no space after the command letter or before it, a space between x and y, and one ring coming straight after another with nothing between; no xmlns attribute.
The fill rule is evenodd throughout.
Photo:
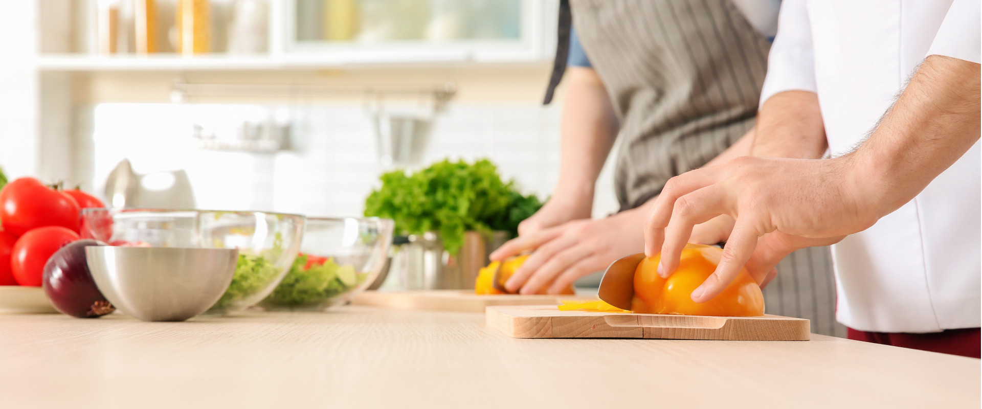
<svg viewBox="0 0 982 409"><path fill-rule="evenodd" d="M621 122L615 185L622 210L753 128L770 42L729 0L570 4L580 44ZM562 24L560 33L557 61L566 58ZM768 313L808 318L813 332L845 336L835 322L827 248L797 251L779 271L764 291Z"/></svg>

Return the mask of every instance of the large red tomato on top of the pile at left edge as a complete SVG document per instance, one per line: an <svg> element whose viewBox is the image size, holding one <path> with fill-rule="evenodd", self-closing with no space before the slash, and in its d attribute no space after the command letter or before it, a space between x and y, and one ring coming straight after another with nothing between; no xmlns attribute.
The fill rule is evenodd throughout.
<svg viewBox="0 0 982 409"><path fill-rule="evenodd" d="M38 179L17 179L0 190L0 221L4 230L15 235L45 226L79 231L80 211L72 196Z"/></svg>

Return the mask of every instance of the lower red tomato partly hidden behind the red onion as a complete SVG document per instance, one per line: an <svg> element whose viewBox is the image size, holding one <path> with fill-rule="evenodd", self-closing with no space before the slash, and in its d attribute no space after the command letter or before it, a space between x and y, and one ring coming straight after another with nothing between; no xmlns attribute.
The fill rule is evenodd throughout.
<svg viewBox="0 0 982 409"><path fill-rule="evenodd" d="M14 280L21 285L41 286L44 264L51 255L79 234L60 226L48 226L27 231L14 244L10 267Z"/></svg>

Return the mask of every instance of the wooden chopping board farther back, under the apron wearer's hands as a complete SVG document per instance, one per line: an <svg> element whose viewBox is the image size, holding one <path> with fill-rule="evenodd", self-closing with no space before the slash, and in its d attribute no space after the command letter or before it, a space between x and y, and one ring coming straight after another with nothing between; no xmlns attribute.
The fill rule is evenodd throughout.
<svg viewBox="0 0 982 409"><path fill-rule="evenodd" d="M483 313L494 305L559 305L560 300L593 300L596 296L576 295L478 295L470 289L433 289L417 291L365 291L352 304L374 305L403 310L441 310Z"/></svg>

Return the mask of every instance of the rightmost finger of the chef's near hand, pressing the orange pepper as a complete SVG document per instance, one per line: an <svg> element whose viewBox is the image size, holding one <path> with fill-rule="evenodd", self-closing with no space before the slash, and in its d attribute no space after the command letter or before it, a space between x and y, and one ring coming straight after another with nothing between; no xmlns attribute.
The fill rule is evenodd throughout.
<svg viewBox="0 0 982 409"><path fill-rule="evenodd" d="M720 264L716 266L716 272L692 291L692 301L709 301L730 285L753 254L757 237L756 231L753 230L750 222L746 221L746 217L743 220L736 219L736 226L730 234L730 241L727 241L727 246L723 249L723 256L720 257Z"/></svg>

